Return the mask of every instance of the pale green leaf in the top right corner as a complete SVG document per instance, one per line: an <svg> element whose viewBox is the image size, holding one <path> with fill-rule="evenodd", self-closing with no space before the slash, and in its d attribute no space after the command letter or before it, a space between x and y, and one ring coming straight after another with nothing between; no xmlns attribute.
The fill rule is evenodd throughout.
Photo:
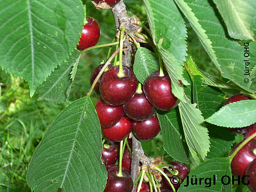
<svg viewBox="0 0 256 192"><path fill-rule="evenodd" d="M226 23L228 34L236 39L253 39L256 27L254 0L213 0Z"/></svg>

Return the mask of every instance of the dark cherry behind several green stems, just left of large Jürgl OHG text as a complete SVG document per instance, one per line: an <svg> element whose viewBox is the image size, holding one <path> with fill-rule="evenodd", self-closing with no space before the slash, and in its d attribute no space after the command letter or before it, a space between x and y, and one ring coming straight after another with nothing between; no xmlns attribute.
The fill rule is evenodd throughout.
<svg viewBox="0 0 256 192"><path fill-rule="evenodd" d="M171 164L174 167L174 169L178 171L177 176L180 178L180 183L182 183L183 180L189 174L189 167L186 164L181 163L181 162L177 162L177 161L172 161L172 162L169 162L167 164ZM172 167L169 167L169 168L170 168L171 171L173 171ZM166 169L164 170L164 172L166 174L171 174ZM171 175L171 177L172 177L172 175ZM169 178L171 179L171 182L173 183L173 187L177 190L180 187L180 183L177 184L178 181L174 178L171 178L171 177L169 177ZM170 183L164 177L162 177L162 184L165 188L172 189Z"/></svg>

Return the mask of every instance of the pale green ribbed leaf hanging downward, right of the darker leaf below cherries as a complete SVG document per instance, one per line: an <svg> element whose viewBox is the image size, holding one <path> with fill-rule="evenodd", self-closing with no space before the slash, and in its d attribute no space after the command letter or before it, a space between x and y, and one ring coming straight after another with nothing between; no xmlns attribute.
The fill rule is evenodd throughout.
<svg viewBox="0 0 256 192"><path fill-rule="evenodd" d="M180 116L185 133L185 138L190 151L199 155L204 160L210 148L208 131L202 125L204 118L196 104L180 101ZM191 153L191 152L190 152Z"/></svg>

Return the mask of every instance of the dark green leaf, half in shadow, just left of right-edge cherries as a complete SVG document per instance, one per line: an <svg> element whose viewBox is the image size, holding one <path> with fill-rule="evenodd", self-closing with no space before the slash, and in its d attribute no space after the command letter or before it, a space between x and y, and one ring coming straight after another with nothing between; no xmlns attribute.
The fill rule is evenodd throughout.
<svg viewBox="0 0 256 192"><path fill-rule="evenodd" d="M210 136L210 151L207 153L207 159L217 157L227 157L229 150L233 146L235 135L228 132L224 127L207 124Z"/></svg>

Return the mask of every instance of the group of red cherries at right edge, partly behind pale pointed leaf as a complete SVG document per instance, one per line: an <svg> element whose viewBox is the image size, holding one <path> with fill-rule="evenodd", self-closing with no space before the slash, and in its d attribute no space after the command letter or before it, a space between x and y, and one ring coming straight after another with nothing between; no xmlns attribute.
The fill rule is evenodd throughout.
<svg viewBox="0 0 256 192"><path fill-rule="evenodd" d="M242 100L252 100L253 98L250 95L246 94L235 94L228 98L223 106L228 105L229 103L242 101ZM245 126L241 128L226 128L231 133L242 134L246 133L244 140L249 138L253 133L256 132L256 123ZM243 141L244 141L243 140ZM236 150L236 148L243 142L239 142L237 146L231 151L231 154ZM234 175L237 175L240 179L244 175L249 175L247 180L250 180L249 188L252 191L256 191L256 137L246 143L234 156L231 161L231 172Z"/></svg>

